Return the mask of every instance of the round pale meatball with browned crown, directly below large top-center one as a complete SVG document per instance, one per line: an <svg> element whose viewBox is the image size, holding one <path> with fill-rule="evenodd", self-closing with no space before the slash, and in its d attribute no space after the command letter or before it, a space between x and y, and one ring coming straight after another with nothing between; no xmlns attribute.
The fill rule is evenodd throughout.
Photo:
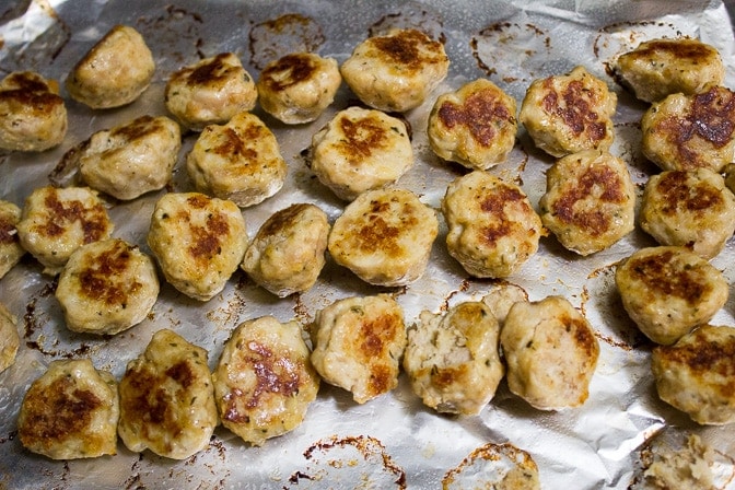
<svg viewBox="0 0 735 490"><path fill-rule="evenodd" d="M312 138L312 172L340 199L384 188L411 165L406 124L380 110L349 107Z"/></svg>

